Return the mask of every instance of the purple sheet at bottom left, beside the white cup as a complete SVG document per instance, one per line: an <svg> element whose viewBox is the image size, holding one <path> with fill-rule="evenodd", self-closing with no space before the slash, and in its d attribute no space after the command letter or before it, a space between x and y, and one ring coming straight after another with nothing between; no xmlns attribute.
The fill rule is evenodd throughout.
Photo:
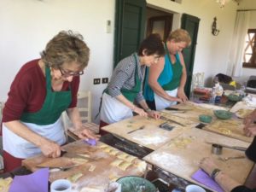
<svg viewBox="0 0 256 192"><path fill-rule="evenodd" d="M29 175L15 176L9 192L48 192L49 168Z"/></svg>

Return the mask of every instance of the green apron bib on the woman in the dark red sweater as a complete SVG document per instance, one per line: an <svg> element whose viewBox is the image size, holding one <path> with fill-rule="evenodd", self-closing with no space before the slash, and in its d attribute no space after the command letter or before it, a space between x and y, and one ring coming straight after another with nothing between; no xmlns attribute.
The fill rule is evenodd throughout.
<svg viewBox="0 0 256 192"><path fill-rule="evenodd" d="M61 117L71 103L71 90L53 91L49 67L45 67L46 96L42 108L36 113L22 113L20 120L36 125L50 125Z"/></svg>

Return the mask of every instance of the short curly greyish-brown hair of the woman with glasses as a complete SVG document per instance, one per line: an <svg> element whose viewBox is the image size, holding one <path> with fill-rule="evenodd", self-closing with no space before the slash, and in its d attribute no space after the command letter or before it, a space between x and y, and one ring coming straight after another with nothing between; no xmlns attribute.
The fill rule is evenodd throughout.
<svg viewBox="0 0 256 192"><path fill-rule="evenodd" d="M59 68L64 62L77 62L81 70L88 65L90 49L83 36L72 31L61 31L52 38L41 53L41 58L49 67Z"/></svg>

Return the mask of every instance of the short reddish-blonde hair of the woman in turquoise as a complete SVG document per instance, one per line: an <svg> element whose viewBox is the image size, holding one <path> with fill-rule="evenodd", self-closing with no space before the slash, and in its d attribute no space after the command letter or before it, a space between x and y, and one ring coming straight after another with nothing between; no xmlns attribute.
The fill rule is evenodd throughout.
<svg viewBox="0 0 256 192"><path fill-rule="evenodd" d="M191 38L189 35L189 32L183 29L177 29L173 32L171 32L167 38L167 41L174 40L174 42L185 42L187 44L187 47L191 44Z"/></svg>

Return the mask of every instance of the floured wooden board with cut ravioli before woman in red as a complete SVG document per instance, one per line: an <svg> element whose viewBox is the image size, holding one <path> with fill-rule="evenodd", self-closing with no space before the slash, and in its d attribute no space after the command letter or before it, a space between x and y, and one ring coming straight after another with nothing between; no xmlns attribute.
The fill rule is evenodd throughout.
<svg viewBox="0 0 256 192"><path fill-rule="evenodd" d="M79 140L74 143L69 143L63 146L63 148L67 150L67 154L64 154L60 158L52 159L38 155L23 160L22 165L26 166L26 168L32 172L38 170L37 166L73 166L77 164L76 162L78 160L81 160L81 156L77 157L76 155L84 154L84 162L67 169L67 171L52 169L52 172L49 174L50 182L60 178L72 180L73 177L80 174L79 179L73 181L73 189L79 191L84 187L106 189L108 183L115 181L119 177L128 175L142 176L146 168L146 163L143 160L138 160L134 156L125 154L101 142L98 142L96 146L90 146L82 140Z"/></svg>

